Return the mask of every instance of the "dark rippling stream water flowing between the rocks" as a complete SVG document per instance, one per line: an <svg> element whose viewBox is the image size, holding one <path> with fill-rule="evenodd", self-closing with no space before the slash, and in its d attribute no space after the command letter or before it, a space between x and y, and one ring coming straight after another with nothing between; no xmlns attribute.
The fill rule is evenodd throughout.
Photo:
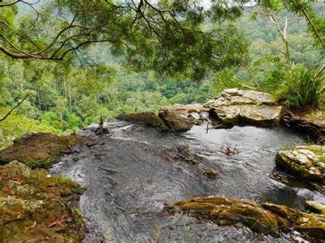
<svg viewBox="0 0 325 243"><path fill-rule="evenodd" d="M186 133L161 133L113 120L108 128L110 136L95 136L90 129L77 132L92 140L51 168L87 187L80 199L89 229L84 242L289 242L292 235L272 238L247 228L218 227L170 215L163 207L220 194L293 208L302 208L306 200L325 202L309 185L289 177L287 183L272 179L276 151L304 144L282 127L206 133L206 127L195 126ZM234 154L225 153L229 148ZM199 163L185 162L189 156ZM217 176L207 177L206 168L215 169Z"/></svg>

